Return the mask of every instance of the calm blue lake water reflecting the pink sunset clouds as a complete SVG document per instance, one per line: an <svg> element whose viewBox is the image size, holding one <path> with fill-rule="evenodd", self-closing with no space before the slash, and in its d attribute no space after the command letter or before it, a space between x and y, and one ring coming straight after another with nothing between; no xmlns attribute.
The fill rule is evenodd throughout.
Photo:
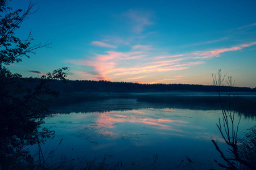
<svg viewBox="0 0 256 170"><path fill-rule="evenodd" d="M221 111L168 108L168 105L139 103L133 99L90 102L61 108L46 126L55 130L47 151L56 149L56 158L93 159L108 154L108 162L122 160L123 167L140 163L138 169L210 169L221 162L212 139L225 148L216 123ZM242 132L255 120L241 119ZM43 146L44 150L48 145ZM190 158L194 163L189 163Z"/></svg>

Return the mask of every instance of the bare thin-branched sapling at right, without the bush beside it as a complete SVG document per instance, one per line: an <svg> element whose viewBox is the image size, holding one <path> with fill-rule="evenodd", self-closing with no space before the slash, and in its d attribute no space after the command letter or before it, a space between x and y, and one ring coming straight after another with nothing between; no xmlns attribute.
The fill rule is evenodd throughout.
<svg viewBox="0 0 256 170"><path fill-rule="evenodd" d="M222 76L221 70L218 70L218 73L212 74L213 78L213 85L216 87L220 104L221 104L221 111L222 111L222 120L223 124L221 125L220 118L218 120L217 128L221 133L222 138L225 140L226 144L230 147L228 148L231 155L225 156L223 152L220 150L220 148L217 146L217 143L213 142L214 146L216 147L216 150L220 152L221 158L225 160L225 162L228 164L228 167L222 164L220 167L224 167L227 169L240 169L242 166L246 166L250 169L255 169L255 166L249 162L247 162L246 159L242 159L241 155L238 151L238 145L237 145L237 134L238 134L238 127L240 125L241 116L239 117L238 123L235 124L235 116L236 116L236 102L237 102L237 95L233 94L233 87L234 87L234 80L232 79L232 76L228 76L226 79L226 83L228 86L226 86L226 95L221 97L221 86L223 86L222 82L225 79L225 76ZM223 98L223 100L222 100ZM223 129L222 129L223 128ZM256 146L256 145L255 145ZM255 149L256 150L256 149ZM232 160L232 162L230 162Z"/></svg>

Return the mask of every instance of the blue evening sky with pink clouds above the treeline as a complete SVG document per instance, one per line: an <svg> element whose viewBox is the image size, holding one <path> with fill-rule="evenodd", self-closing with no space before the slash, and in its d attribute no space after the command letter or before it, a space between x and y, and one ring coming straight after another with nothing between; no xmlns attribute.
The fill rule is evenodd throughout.
<svg viewBox="0 0 256 170"><path fill-rule="evenodd" d="M28 0L11 1L26 8ZM218 69L256 87L256 1L34 0L16 36L52 42L9 66L37 77L63 66L71 80L212 84Z"/></svg>

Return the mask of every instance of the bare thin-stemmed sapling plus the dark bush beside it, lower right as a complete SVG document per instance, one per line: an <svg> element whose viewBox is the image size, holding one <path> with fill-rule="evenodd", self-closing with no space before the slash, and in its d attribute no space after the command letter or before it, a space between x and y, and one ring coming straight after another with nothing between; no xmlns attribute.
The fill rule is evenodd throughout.
<svg viewBox="0 0 256 170"><path fill-rule="evenodd" d="M236 102L237 95L233 91L234 81L232 76L228 76L226 83L226 94L221 96L220 88L224 86L226 74L222 75L221 70L218 73L212 74L213 85L216 87L222 111L222 120L218 120L218 130L221 133L226 145L228 145L229 154L225 155L218 147L217 142L212 140L216 150L220 152L221 158L224 159L226 165L218 163L220 167L226 169L256 169L256 126L250 129L245 138L238 138L238 127L241 121L241 116L236 120ZM237 122L236 122L237 121Z"/></svg>

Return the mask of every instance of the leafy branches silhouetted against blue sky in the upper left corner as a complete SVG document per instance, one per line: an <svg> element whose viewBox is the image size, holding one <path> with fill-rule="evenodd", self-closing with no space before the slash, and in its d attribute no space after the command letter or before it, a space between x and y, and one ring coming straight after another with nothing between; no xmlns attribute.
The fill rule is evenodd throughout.
<svg viewBox="0 0 256 170"><path fill-rule="evenodd" d="M0 3L0 66L10 65L10 63L22 61L22 56L29 58L29 53L35 54L36 49L46 47L51 43L39 43L32 45L32 33L30 32L26 40L20 40L15 36L16 29L29 15L34 14L37 10L33 10L36 3L30 1L27 9L18 9L7 7L7 0L1 0ZM5 15L3 15L5 14Z"/></svg>

